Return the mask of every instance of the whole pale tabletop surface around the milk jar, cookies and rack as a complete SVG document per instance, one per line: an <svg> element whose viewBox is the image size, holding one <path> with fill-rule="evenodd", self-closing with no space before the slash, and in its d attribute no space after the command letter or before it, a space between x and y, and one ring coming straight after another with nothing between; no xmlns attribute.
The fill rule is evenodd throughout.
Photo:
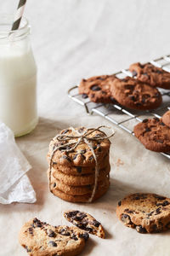
<svg viewBox="0 0 170 256"><path fill-rule="evenodd" d="M13 13L17 2L0 0L0 12ZM35 131L16 142L31 163L28 176L37 203L0 206L0 255L26 255L17 240L20 226L35 216L51 224L66 224L61 212L68 208L92 213L107 230L105 241L92 236L81 255L170 255L169 232L140 235L116 218L116 203L129 192L143 190L170 197L169 160L147 151L127 133L115 128L111 189L93 205L55 198L48 192L46 177L48 143L60 128L108 124L99 117L87 117L67 97L67 90L82 78L115 73L135 61L170 54L169 10L168 0L27 1L25 15L31 23L38 67L40 121Z"/></svg>

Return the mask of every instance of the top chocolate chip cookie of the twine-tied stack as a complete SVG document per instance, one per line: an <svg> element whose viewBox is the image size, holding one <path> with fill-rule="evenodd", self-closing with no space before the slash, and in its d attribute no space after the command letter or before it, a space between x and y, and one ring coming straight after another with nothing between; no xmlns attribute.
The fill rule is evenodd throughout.
<svg viewBox="0 0 170 256"><path fill-rule="evenodd" d="M77 143L78 138L77 135L81 135L83 132L93 131L92 129L87 129L85 127L76 128L75 130L71 130L71 128L65 129L59 133L60 138L63 140L57 139L54 137L49 144L48 151L48 160L51 158L53 162L61 166L91 166L94 167L96 162L94 160L94 154L89 148L87 143L81 141L76 148L73 148L70 152L65 152L65 149L70 149L71 146L63 146L64 143ZM68 142L66 136L76 136L76 138L71 139ZM106 136L103 131L94 131L93 133L88 135L88 138L92 138L91 144L94 149L94 153L96 155L97 160L101 161L108 157L109 149L111 143L108 139L95 141L94 138L101 138ZM59 149L56 149L59 147Z"/></svg>

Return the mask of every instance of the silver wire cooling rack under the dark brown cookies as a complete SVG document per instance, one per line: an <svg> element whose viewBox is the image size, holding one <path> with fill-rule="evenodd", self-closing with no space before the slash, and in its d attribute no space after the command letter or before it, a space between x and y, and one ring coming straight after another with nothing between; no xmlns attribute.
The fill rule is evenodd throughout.
<svg viewBox="0 0 170 256"><path fill-rule="evenodd" d="M161 67L163 70L170 72L170 55L162 56L156 60L150 61L156 67ZM126 76L132 77L132 73L128 69L122 69L121 71L114 73L117 78L123 79ZM163 113L168 109L170 110L170 90L159 89L162 96L162 104L160 108L156 110L137 111L123 108L117 102L110 104L94 103L90 102L88 98L82 98L82 95L78 94L78 86L72 87L68 90L68 96L78 104L82 105L86 113L98 114L103 118L109 120L112 124L119 126L122 130L127 131L132 136L133 127L143 119L157 117L160 118ZM161 153L170 159L170 153Z"/></svg>

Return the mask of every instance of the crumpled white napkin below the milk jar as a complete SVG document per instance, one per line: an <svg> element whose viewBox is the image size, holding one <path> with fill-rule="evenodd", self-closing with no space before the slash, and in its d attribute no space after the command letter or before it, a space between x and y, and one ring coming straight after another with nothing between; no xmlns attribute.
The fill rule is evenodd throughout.
<svg viewBox="0 0 170 256"><path fill-rule="evenodd" d="M13 132L0 122L0 203L33 203L36 194L26 172L31 165L14 141Z"/></svg>

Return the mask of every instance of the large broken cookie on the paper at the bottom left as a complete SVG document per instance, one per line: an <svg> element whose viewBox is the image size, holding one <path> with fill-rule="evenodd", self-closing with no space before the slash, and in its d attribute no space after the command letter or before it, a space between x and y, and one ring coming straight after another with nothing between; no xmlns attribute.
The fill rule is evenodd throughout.
<svg viewBox="0 0 170 256"><path fill-rule="evenodd" d="M74 256L82 252L88 233L77 227L52 226L37 218L20 230L19 241L31 256Z"/></svg>

